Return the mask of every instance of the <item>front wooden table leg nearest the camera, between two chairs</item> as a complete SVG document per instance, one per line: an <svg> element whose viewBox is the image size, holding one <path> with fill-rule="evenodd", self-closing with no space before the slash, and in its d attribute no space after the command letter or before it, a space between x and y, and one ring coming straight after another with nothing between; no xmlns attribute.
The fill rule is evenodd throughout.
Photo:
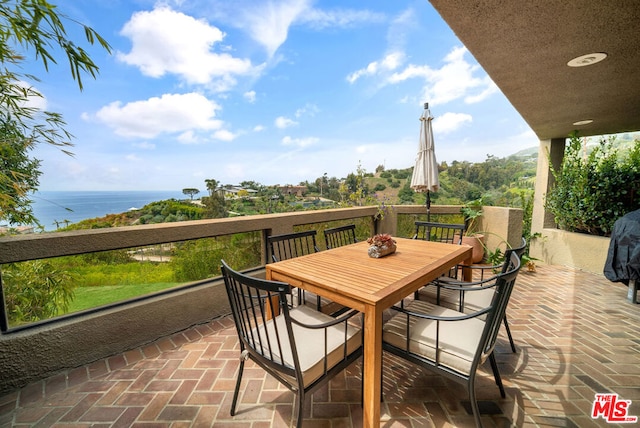
<svg viewBox="0 0 640 428"><path fill-rule="evenodd" d="M382 312L368 307L364 312L363 418L365 428L380 426L382 388Z"/></svg>

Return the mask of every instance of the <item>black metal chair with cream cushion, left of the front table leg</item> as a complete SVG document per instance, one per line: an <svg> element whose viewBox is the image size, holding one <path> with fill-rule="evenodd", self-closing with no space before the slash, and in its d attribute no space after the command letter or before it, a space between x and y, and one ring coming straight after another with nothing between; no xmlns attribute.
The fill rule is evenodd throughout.
<svg viewBox="0 0 640 428"><path fill-rule="evenodd" d="M293 415L301 427L306 397L362 355L362 329L353 319L358 312L332 318L304 305L291 308L289 284L244 275L224 261L221 270L240 340L231 416L251 359L296 395ZM269 313L279 315L267 320Z"/></svg>

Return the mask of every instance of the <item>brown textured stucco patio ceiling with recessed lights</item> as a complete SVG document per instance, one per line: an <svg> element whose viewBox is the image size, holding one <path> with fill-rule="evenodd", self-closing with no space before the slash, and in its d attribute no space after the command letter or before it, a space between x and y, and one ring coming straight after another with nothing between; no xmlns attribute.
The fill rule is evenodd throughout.
<svg viewBox="0 0 640 428"><path fill-rule="evenodd" d="M640 130L637 1L430 3L541 140ZM567 66L591 53L607 57Z"/></svg>

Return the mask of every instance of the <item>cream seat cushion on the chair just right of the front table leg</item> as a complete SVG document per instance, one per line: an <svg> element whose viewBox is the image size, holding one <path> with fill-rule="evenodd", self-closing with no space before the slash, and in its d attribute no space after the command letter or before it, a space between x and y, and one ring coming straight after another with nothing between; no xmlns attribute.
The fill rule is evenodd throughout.
<svg viewBox="0 0 640 428"><path fill-rule="evenodd" d="M423 301L414 301L406 308L410 311L444 317L457 317L461 313L452 309ZM427 320L410 317L410 337L408 351L427 359L436 359L436 329L440 329L438 358L439 364L469 375L471 363L476 353L484 321L472 318L462 321ZM396 314L383 328L382 339L391 345L407 349L407 316Z"/></svg>

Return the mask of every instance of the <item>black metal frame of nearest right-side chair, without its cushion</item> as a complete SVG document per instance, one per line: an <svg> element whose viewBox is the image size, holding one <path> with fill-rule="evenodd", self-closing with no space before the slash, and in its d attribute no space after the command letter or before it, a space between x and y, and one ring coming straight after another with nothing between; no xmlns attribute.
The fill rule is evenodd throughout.
<svg viewBox="0 0 640 428"><path fill-rule="evenodd" d="M395 317L392 318L383 329L382 348L385 351L391 352L398 357L404 358L407 361L418 364L467 386L471 409L478 427L482 426L482 421L475 395L475 375L478 366L486 361L487 358L491 364L496 385L500 389L500 395L502 398L505 398L506 396L494 356L494 347L498 337L501 321L504 319L507 304L509 303L509 298L515 284L518 271L520 270L520 264L520 258L516 254L512 254L509 260L509 269L506 272L496 275L491 281L487 282L483 286L467 287L464 290L465 293L474 293L488 288L493 288L493 298L488 307L474 313L464 314L451 309L432 306L433 308L439 308L439 313L448 314L447 316L439 316L434 313L430 314L428 312L412 310L414 306L419 307L421 305L429 305L426 302L414 301L406 307L394 306L392 309L397 311L397 315L395 315L395 317L402 317L398 319L404 319L403 325L406 326L406 331L404 332L406 343L403 347L393 345L385 339L385 337L388 339L388 336L386 336L387 327L391 325L390 323L394 322ZM448 340L447 337L443 337L443 335L440 334L443 324L463 322L464 320L471 320L474 318L482 320L484 324L482 333L480 337L477 338L477 346L468 372L457 370L446 363L442 363L441 359L443 357L441 357L441 354L443 352L443 348L441 345L443 343L446 345ZM436 323L435 337L431 338L435 343L434 358L429 358L428 356L413 352L410 349L410 342L412 340L411 327L415 324L416 320L431 320L431 322ZM461 326L460 328L464 328L464 326Z"/></svg>

